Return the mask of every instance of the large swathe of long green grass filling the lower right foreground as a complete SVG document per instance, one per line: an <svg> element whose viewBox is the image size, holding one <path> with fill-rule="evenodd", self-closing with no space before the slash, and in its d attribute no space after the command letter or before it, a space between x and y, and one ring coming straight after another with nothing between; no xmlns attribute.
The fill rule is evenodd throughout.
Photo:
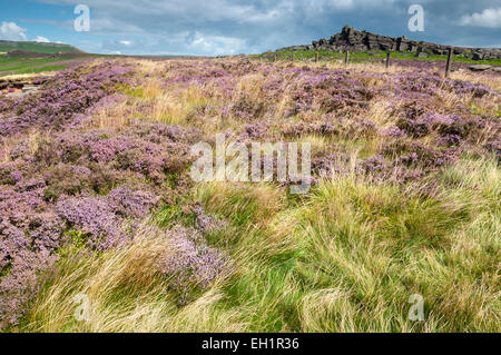
<svg viewBox="0 0 501 355"><path fill-rule="evenodd" d="M224 288L227 310L256 332L495 332L499 170L494 160L462 164L435 177L461 176L438 197L326 180L258 228L249 221L264 201L204 190L207 208L247 220L229 234L243 270ZM425 322L407 318L412 294L424 297Z"/></svg>

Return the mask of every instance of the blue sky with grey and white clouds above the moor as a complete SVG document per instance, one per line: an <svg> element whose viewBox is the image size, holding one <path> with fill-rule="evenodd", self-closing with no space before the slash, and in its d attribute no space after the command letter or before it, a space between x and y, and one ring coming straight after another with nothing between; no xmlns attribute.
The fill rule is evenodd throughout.
<svg viewBox="0 0 501 355"><path fill-rule="evenodd" d="M414 3L424 9L424 31L409 30ZM75 29L78 4L90 9L89 31ZM501 47L501 0L0 0L0 39L98 53L255 53L328 38L346 23L443 45Z"/></svg>

